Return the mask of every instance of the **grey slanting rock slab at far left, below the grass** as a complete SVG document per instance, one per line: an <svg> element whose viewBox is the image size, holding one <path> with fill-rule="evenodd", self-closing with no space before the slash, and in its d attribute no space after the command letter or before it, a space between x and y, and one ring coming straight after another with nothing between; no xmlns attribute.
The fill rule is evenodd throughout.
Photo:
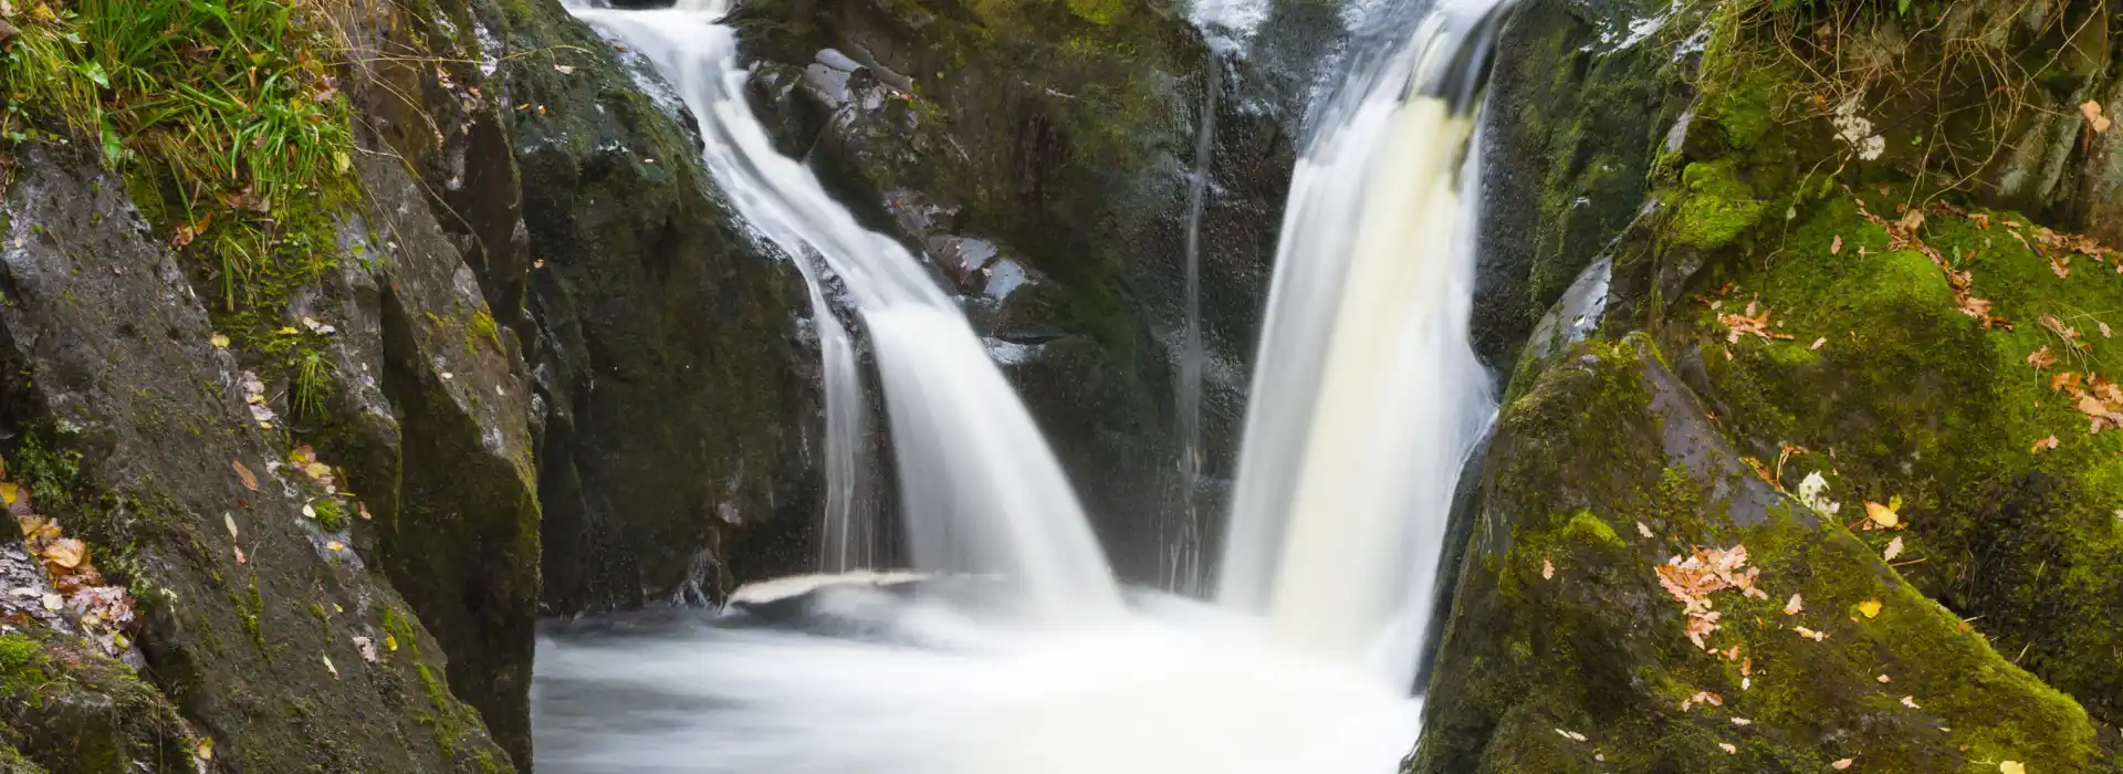
<svg viewBox="0 0 2123 774"><path fill-rule="evenodd" d="M142 606L140 676L155 687L100 655L68 655L59 640L17 653L8 634L0 691L28 679L23 670L57 685L45 710L0 713L25 723L8 742L55 772L187 768L193 734L212 738L229 766L261 772L318 761L505 768L478 715L444 687L446 647L369 570L389 551L367 526L306 515L318 483L284 462L289 439L261 430L244 407L238 354L212 344L185 271L123 191L93 159L21 157L0 204L0 418L11 473L34 477L40 513L87 541ZM28 454L32 445L45 452ZM32 458L47 462L21 464ZM512 579L507 566L484 570L497 573L493 583ZM529 611L529 587L516 594ZM401 649L372 662L355 638ZM512 666L529 659L499 651L469 664L482 679L505 679ZM482 700L507 721L505 696Z"/></svg>

